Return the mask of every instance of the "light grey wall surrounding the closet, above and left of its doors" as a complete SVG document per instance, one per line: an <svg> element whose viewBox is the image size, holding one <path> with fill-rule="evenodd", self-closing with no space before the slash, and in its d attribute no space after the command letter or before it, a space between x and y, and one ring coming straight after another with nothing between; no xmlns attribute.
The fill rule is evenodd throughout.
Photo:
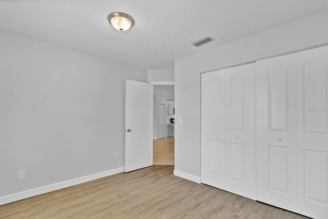
<svg viewBox="0 0 328 219"><path fill-rule="evenodd" d="M200 176L200 72L328 43L327 21L323 11L177 60L175 170Z"/></svg>

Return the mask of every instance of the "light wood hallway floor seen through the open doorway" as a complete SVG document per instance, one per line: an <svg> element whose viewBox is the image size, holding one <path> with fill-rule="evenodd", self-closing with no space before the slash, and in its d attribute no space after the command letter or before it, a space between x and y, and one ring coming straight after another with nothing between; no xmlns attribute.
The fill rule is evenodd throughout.
<svg viewBox="0 0 328 219"><path fill-rule="evenodd" d="M174 165L174 138L153 140L153 164Z"/></svg>

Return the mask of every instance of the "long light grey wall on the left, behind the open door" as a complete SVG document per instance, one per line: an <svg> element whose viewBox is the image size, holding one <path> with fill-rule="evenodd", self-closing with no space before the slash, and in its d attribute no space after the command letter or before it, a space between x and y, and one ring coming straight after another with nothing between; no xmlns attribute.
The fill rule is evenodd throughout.
<svg viewBox="0 0 328 219"><path fill-rule="evenodd" d="M146 70L5 30L0 62L0 196L124 166L125 79Z"/></svg>

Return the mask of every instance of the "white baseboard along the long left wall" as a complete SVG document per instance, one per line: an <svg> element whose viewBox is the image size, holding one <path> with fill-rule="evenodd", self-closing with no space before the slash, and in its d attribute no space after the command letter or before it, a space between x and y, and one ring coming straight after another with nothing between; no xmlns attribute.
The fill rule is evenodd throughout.
<svg viewBox="0 0 328 219"><path fill-rule="evenodd" d="M16 201L22 200L24 198L33 197L36 195L44 194L44 193L55 191L58 189L63 189L63 188L74 186L74 185L77 185L80 183L86 183L86 182L89 182L92 180L97 180L98 178L103 178L103 177L114 175L114 174L121 173L124 171L125 171L125 167L119 167L119 168L107 170L104 172L99 172L99 173L94 173L91 175L73 178L72 180L67 180L67 181L54 183L54 184L50 184L50 185L46 185L46 186L42 186L42 187L38 187L38 188L34 188L34 189L25 190L22 192L17 192L17 193L1 196L0 197L0 205L5 205L5 204L11 203L11 202L16 202Z"/></svg>

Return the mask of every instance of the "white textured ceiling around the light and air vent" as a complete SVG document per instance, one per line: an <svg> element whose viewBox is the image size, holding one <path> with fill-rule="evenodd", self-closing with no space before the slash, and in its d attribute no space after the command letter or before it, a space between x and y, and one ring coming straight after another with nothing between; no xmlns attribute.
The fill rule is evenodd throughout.
<svg viewBox="0 0 328 219"><path fill-rule="evenodd" d="M0 0L0 28L145 69L328 9L327 0ZM135 26L107 21L125 12ZM210 35L215 41L189 43Z"/></svg>

